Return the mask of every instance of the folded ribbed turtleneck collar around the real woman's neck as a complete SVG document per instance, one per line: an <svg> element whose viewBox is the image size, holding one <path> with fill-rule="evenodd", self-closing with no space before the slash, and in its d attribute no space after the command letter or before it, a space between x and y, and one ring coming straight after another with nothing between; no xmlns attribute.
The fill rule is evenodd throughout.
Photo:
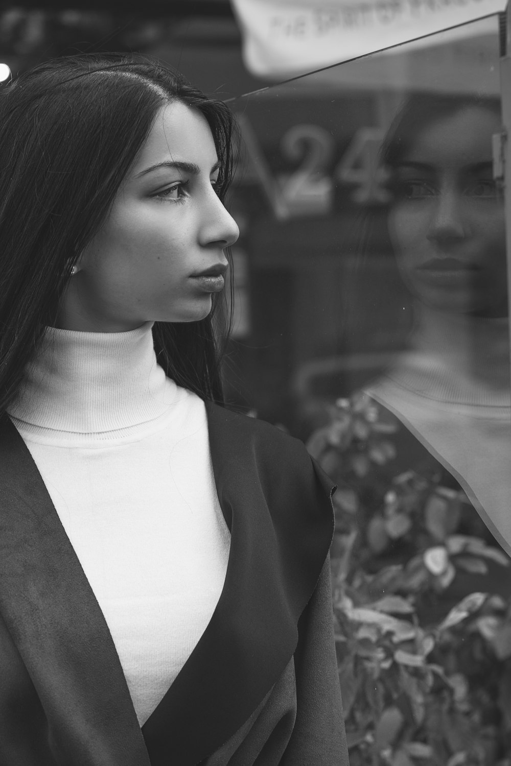
<svg viewBox="0 0 511 766"><path fill-rule="evenodd" d="M156 362L152 325L129 332L48 327L9 414L28 427L75 434L126 429L162 416L177 387Z"/></svg>

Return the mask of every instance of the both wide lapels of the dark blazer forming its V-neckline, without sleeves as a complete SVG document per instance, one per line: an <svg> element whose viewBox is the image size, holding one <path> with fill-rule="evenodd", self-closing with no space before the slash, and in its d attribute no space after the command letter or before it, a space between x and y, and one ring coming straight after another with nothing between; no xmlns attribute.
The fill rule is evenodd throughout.
<svg viewBox="0 0 511 766"><path fill-rule="evenodd" d="M75 709L75 725L90 727L111 763L195 766L237 731L293 655L332 539L332 483L303 445L215 404L206 411L231 530L227 574L205 632L142 730L41 474L11 421L0 424L0 612L58 737L84 735Z"/></svg>

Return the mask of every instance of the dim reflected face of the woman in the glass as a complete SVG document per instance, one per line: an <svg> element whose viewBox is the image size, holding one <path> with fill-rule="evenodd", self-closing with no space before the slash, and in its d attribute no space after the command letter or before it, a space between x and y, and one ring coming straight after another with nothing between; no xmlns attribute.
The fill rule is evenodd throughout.
<svg viewBox="0 0 511 766"><path fill-rule="evenodd" d="M401 276L434 309L506 316L503 197L492 175L500 118L483 106L439 116L395 169L389 233Z"/></svg>

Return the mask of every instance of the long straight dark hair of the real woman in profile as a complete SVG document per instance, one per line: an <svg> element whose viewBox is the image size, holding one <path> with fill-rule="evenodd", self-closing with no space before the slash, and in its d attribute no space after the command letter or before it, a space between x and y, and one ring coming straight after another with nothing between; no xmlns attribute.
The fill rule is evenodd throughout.
<svg viewBox="0 0 511 766"><path fill-rule="evenodd" d="M15 399L70 272L110 211L159 108L179 100L208 121L223 201L233 117L169 67L139 54L40 64L0 90L0 412ZM178 385L222 401L224 296L198 322L156 322L159 364Z"/></svg>

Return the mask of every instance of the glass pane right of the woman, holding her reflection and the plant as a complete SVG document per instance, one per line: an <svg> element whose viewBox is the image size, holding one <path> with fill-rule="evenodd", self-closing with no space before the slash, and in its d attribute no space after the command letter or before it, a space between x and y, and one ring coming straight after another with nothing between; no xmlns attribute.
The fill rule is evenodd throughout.
<svg viewBox="0 0 511 766"><path fill-rule="evenodd" d="M499 56L495 17L232 104L244 383L230 394L306 440L339 485L352 764L375 762L389 710L389 758L509 752Z"/></svg>

